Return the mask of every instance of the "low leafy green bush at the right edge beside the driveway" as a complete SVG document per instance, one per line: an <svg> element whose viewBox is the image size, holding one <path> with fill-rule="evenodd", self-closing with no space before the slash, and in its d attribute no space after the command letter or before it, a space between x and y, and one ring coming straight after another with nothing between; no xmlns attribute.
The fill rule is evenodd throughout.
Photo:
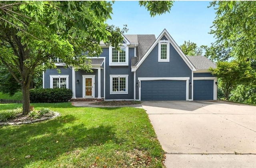
<svg viewBox="0 0 256 168"><path fill-rule="evenodd" d="M238 85L231 91L230 101L256 104L256 85Z"/></svg>

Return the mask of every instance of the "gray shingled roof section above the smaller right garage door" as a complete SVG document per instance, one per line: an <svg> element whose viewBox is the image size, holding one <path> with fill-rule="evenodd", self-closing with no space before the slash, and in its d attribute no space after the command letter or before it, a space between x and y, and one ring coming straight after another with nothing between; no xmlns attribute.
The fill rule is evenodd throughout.
<svg viewBox="0 0 256 168"><path fill-rule="evenodd" d="M216 64L213 63L210 59L204 56L187 56L190 62L196 67L198 70L209 69L210 67L216 68Z"/></svg>

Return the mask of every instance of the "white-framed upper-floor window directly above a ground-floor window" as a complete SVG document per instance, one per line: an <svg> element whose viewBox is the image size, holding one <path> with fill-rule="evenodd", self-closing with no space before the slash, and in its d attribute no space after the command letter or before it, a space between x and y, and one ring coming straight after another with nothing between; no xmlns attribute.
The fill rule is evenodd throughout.
<svg viewBox="0 0 256 168"><path fill-rule="evenodd" d="M109 65L110 66L128 66L128 47L122 46L120 50L109 47Z"/></svg>

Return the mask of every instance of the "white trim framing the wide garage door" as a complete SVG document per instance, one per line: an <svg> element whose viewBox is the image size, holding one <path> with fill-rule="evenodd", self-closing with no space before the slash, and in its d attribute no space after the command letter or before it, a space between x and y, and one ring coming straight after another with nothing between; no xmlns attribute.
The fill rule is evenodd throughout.
<svg viewBox="0 0 256 168"><path fill-rule="evenodd" d="M189 96L189 79L190 77L138 77L139 80L139 100L141 101L141 81L158 81L158 80L170 80L170 81L186 81L186 101Z"/></svg>

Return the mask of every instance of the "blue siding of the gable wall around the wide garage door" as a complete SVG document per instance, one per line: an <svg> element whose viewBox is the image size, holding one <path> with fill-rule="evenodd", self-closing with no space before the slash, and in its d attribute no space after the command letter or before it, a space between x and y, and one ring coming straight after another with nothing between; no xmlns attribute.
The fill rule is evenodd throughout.
<svg viewBox="0 0 256 168"><path fill-rule="evenodd" d="M191 69L171 44L170 62L158 62L158 44L156 44L136 70L136 83L138 83L138 77L190 77L189 82L191 82L191 75ZM186 86L184 90L186 91ZM189 87L189 99L192 99L191 92L192 88ZM136 87L136 99L139 99L138 86Z"/></svg>

